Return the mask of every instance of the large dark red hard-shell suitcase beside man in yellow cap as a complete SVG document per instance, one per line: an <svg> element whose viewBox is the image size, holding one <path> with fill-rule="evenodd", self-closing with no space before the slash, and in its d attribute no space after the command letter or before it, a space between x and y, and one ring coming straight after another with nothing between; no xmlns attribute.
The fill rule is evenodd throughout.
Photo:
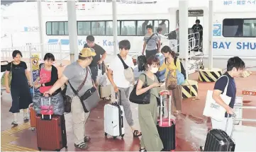
<svg viewBox="0 0 256 152"><path fill-rule="evenodd" d="M46 115L45 115L46 117ZM42 119L36 116L36 132L38 150L60 151L67 148L67 134L64 115L52 116L51 119Z"/></svg>

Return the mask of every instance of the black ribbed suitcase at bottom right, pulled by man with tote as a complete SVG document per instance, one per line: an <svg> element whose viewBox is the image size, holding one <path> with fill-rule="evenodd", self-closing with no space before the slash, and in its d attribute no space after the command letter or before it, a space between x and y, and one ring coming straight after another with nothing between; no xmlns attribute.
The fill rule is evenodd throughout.
<svg viewBox="0 0 256 152"><path fill-rule="evenodd" d="M228 128L228 119L226 123L226 130ZM233 125L234 129L234 125ZM204 151L235 151L235 141L221 129L211 129L206 136L206 144L204 145Z"/></svg>

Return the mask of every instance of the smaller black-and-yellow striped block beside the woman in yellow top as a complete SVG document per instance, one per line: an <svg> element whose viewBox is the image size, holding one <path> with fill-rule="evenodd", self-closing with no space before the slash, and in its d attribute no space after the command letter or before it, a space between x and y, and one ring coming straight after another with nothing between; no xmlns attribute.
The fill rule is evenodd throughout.
<svg viewBox="0 0 256 152"><path fill-rule="evenodd" d="M193 80L186 80L182 84L182 97L183 98L196 98L198 95L198 82Z"/></svg>

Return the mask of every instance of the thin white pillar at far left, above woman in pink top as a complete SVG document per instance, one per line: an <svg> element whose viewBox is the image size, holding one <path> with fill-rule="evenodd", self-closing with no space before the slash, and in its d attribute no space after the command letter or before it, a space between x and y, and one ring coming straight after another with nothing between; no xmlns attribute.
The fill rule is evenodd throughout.
<svg viewBox="0 0 256 152"><path fill-rule="evenodd" d="M44 33L43 33L43 16L42 16L42 3L38 0L38 25L39 25L39 38L40 38L40 52L41 59L45 56Z"/></svg>

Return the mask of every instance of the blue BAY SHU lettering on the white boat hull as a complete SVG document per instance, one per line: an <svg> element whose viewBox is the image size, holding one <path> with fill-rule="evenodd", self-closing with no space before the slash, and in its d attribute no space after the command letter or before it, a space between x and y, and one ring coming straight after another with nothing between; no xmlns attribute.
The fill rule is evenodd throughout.
<svg viewBox="0 0 256 152"><path fill-rule="evenodd" d="M213 42L213 49L256 50L256 42Z"/></svg>

